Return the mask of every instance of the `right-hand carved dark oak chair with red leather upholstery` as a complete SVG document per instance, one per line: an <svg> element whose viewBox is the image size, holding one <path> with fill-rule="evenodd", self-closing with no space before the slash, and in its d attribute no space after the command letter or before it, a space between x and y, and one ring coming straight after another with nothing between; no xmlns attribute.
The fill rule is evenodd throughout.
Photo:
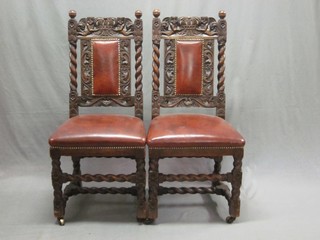
<svg viewBox="0 0 320 240"><path fill-rule="evenodd" d="M152 121L147 134L148 221L152 222L158 216L158 195L209 193L226 198L230 214L226 221L232 223L240 212L245 140L224 120L226 14L220 11L218 21L212 17L166 17L161 20L159 10L154 10L153 15ZM164 46L162 95L159 73L161 42ZM215 48L218 50L217 64L214 62ZM214 66L218 69L216 91ZM216 116L186 113L160 115L160 108L173 107L215 108ZM221 173L223 156L228 155L233 157L233 169ZM159 172L159 160L182 157L195 158L195 161L201 161L200 158L213 159L214 169L210 174ZM203 182L204 185L207 181L210 185L203 187L166 187L168 184L163 184ZM231 191L228 185L231 185Z"/></svg>

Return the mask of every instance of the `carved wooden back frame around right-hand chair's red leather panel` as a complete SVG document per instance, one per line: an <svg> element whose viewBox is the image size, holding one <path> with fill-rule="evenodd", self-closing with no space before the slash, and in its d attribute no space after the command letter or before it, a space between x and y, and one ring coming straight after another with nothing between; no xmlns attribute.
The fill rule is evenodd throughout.
<svg viewBox="0 0 320 240"><path fill-rule="evenodd" d="M226 21L225 15L219 13L220 19L216 21L212 17L167 17L162 21L158 18L159 14L154 15L153 19L153 106L157 108L157 102L160 101L161 107L175 106L201 106L217 107L218 110L224 108L218 96L213 94L214 84L214 41L218 40L219 49L219 92L223 89L224 61L221 61L224 55L224 44L226 42ZM164 56L164 96L159 96L159 47L160 39L165 39ZM176 95L176 41L186 39L202 39L202 89L200 95ZM221 77L222 76L222 77ZM157 97L158 96L158 99ZM159 102L158 102L159 104ZM221 106L220 106L221 105ZM154 110L159 112L159 109ZM156 114L157 115L157 114Z"/></svg>

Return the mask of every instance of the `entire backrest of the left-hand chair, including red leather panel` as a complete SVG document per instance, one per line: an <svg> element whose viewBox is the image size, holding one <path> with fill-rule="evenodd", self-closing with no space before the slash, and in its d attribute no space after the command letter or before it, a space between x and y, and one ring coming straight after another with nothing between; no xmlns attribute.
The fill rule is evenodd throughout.
<svg viewBox="0 0 320 240"><path fill-rule="evenodd" d="M142 20L82 18L69 20L70 117L78 107L135 107L142 118ZM80 41L81 95L77 92L77 42ZM131 42L135 46L135 94L131 94Z"/></svg>

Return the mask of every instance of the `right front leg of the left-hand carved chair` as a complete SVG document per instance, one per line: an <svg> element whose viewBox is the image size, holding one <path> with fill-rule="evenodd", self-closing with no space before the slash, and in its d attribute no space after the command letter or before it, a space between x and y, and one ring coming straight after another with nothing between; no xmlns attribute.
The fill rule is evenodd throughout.
<svg viewBox="0 0 320 240"><path fill-rule="evenodd" d="M137 178L136 178L136 188L137 188L137 220L139 222L145 221L147 218L147 203L146 203L146 170L145 170L145 160L143 158L136 159L137 164Z"/></svg>

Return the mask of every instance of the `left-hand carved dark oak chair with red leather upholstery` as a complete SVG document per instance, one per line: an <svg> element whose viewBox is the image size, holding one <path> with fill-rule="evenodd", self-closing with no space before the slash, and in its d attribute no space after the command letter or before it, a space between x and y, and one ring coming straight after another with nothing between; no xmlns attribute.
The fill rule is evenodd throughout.
<svg viewBox="0 0 320 240"><path fill-rule="evenodd" d="M69 16L70 118L49 138L54 215L60 225L63 225L66 202L73 195L131 194L137 196L137 220L142 221L146 218L147 212L146 133L142 120L142 14L136 11L134 21L124 17L88 17L77 21L75 11L70 11ZM77 92L78 42L81 46L81 94ZM134 79L131 73L132 42L135 48L134 94L131 94L131 81ZM131 107L134 108L135 116L79 115L79 107L97 106ZM72 174L62 171L61 156L71 156ZM131 174L82 174L80 159L85 157L134 159L136 170ZM130 182L131 184L128 187L84 187L83 182Z"/></svg>

